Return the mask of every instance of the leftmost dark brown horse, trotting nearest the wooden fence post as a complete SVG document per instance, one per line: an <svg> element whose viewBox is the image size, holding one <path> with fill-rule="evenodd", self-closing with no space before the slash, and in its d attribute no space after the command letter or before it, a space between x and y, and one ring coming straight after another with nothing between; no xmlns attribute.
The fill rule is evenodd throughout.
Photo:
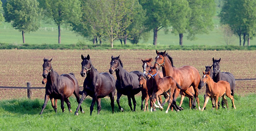
<svg viewBox="0 0 256 131"><path fill-rule="evenodd" d="M76 101L79 103L79 85L76 80L76 77L73 73L58 75L52 68L51 64L52 59L45 59L43 64L43 81L42 84L46 83L45 86L45 95L44 95L44 105L40 114L43 113L48 100L51 100L52 108L57 112L57 99L61 100L61 109L64 112L64 101L67 103L69 112L72 112L70 109L69 97L72 93L76 97ZM45 78L47 80L45 80ZM55 102L55 103L54 103ZM82 108L81 112L83 112Z"/></svg>

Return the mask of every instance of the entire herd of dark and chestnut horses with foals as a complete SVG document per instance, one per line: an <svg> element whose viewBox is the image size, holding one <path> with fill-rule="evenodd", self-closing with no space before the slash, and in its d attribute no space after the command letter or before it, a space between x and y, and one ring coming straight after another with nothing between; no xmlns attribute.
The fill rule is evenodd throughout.
<svg viewBox="0 0 256 131"><path fill-rule="evenodd" d="M111 56L109 72L99 73L90 60L90 55L84 57L81 55L81 73L84 79L84 89L79 91L78 81L76 80L73 73L58 75L52 68L52 59L45 59L43 64L43 81L42 84L46 84L44 105L40 114L43 113L48 100L51 100L52 108L57 112L57 99L61 100L61 109L64 112L64 102L67 103L69 112L70 109L69 97L74 94L78 103L75 111L75 115L78 115L80 109L81 113L84 113L81 103L90 96L92 103L90 106L90 115L92 115L93 107L95 102L97 103L98 113L101 111L101 98L106 96L110 97L112 112L114 112L114 95L117 91L116 103L120 111L124 111L120 106L119 99L122 95L127 95L128 105L131 111L136 110L136 100L134 95L141 92L141 110L148 111L148 100L150 100L150 110L153 111L155 108L163 110L165 103L168 103L166 113L169 108L175 109L175 111L183 110L182 103L185 97L189 98L189 107L196 109L196 102L198 103L198 109L203 111L205 106L211 98L212 109L219 107L220 100L222 97L221 106L227 108L227 99L225 95L232 100L232 107L236 109L234 105L234 89L235 89L235 78L229 72L220 71L221 59L212 58L213 64L206 66L206 70L203 71L202 80L200 74L195 67L182 66L175 67L173 64L172 57L169 56L166 51L158 52L156 50L155 62L152 65L152 58L142 60L143 72L132 71L128 72L123 68L122 61L119 56ZM162 71L159 69L162 67ZM113 77L113 72L116 72L116 80ZM204 106L201 109L199 106L198 89L201 89L206 85L206 92L204 95ZM82 95L79 99L79 94ZM178 95L181 95L180 105L177 106L176 100ZM162 100L162 95L165 100ZM133 107L131 104L133 101ZM145 107L143 102L145 100Z"/></svg>

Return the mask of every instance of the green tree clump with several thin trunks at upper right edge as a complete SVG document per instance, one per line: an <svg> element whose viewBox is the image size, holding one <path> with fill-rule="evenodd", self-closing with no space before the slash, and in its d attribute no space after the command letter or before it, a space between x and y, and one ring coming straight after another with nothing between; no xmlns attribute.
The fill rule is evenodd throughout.
<svg viewBox="0 0 256 131"><path fill-rule="evenodd" d="M250 45L250 39L256 33L256 1L255 0L224 0L224 5L219 16L221 24L227 24L232 31L239 36L243 35L243 46L245 41Z"/></svg>

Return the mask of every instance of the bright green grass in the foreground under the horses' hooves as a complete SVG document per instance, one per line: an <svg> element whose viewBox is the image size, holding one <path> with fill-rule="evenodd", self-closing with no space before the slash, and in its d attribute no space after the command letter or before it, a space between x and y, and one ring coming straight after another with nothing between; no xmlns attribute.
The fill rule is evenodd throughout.
<svg viewBox="0 0 256 131"><path fill-rule="evenodd" d="M58 101L58 113L55 113L50 102L42 115L39 115L42 99L27 100L1 100L0 101L0 130L255 130L256 128L256 95L236 96L235 109L222 109L218 111L211 109L210 101L205 111L191 110L188 107L188 99L183 102L184 110L180 112L165 111L157 109L156 112L143 112L140 110L140 97L137 97L136 112L130 111L127 97L120 99L121 106L125 109L120 112L115 102L115 113L111 113L109 98L102 99L102 111L97 115L96 104L93 115L90 116L91 99L86 98L82 107L85 111L79 116L74 115L77 103L70 98L72 113L61 112ZM180 101L178 99L177 101ZM201 107L203 96L200 95ZM231 100L228 99L231 108ZM166 105L164 106L166 109Z"/></svg>

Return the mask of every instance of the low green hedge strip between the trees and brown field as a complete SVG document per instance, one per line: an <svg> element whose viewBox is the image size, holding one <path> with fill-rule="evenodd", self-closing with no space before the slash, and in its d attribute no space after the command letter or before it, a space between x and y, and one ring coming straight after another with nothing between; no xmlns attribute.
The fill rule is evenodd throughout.
<svg viewBox="0 0 256 131"><path fill-rule="evenodd" d="M112 49L110 45L102 44L102 45L92 45L92 44L70 44L70 45L61 45L61 44L6 44L0 43L0 49L76 49L76 50L104 50L104 49ZM256 50L256 45L251 46L236 46L236 45L219 45L219 46L211 46L211 45L157 45L154 46L152 44L127 44L127 45L114 45L113 49L131 49L131 50Z"/></svg>

